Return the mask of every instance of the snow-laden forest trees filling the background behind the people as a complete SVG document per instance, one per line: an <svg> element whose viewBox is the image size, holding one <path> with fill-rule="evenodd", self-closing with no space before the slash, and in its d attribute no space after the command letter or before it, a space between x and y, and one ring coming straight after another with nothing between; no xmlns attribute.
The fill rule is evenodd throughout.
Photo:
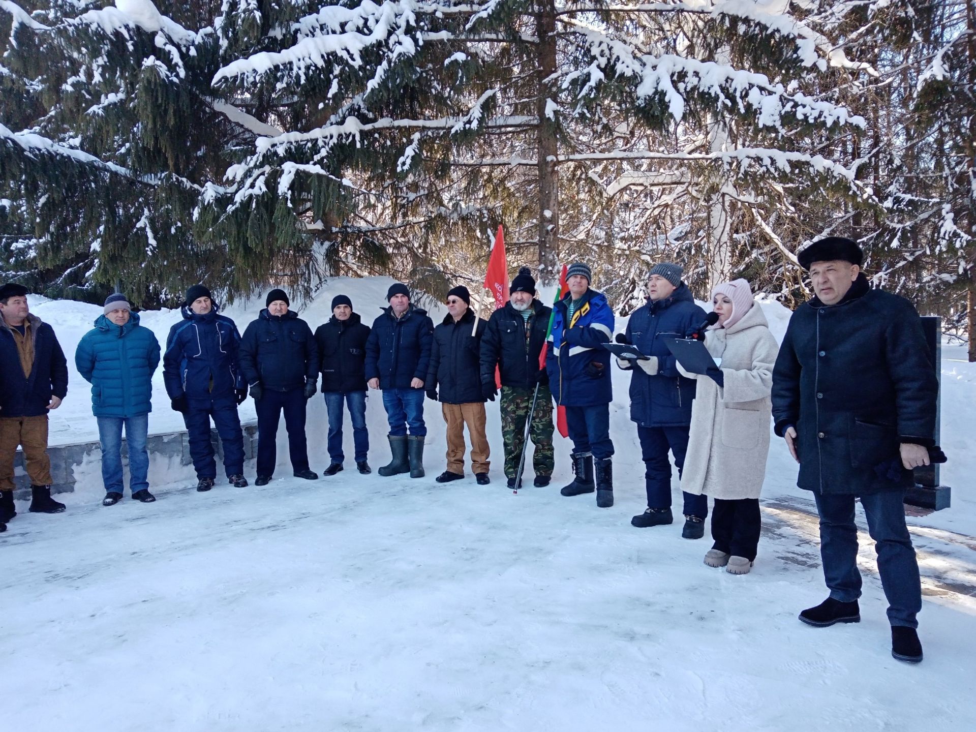
<svg viewBox="0 0 976 732"><path fill-rule="evenodd" d="M0 44L0 278L48 297L440 297L504 224L622 313L661 260L795 305L833 233L976 328L973 0L0 0Z"/></svg>

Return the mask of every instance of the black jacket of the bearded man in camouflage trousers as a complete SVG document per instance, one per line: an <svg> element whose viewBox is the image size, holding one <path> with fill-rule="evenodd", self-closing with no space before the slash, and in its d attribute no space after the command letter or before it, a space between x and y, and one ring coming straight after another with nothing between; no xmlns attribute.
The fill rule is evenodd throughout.
<svg viewBox="0 0 976 732"><path fill-rule="evenodd" d="M546 344L549 317L552 308L538 300L532 301L531 328L528 341L525 338L525 319L522 313L506 303L488 318L488 326L481 338L481 383L494 384L495 367L502 376L502 386L530 388L535 386L539 372L539 354ZM549 384L549 375L543 369L542 384Z"/></svg>

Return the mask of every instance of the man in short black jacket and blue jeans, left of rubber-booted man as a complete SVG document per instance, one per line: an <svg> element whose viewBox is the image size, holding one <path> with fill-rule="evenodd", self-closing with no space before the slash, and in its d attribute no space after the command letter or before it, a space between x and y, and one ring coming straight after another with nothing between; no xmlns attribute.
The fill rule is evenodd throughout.
<svg viewBox="0 0 976 732"><path fill-rule="evenodd" d="M349 409L352 422L352 444L356 469L363 475L371 470L366 457L369 453L369 431L366 429L366 341L370 327L362 323L352 311L352 301L346 295L332 299L332 317L315 329L319 370L322 372L322 394L329 413L329 459L326 475L343 469L343 402Z"/></svg>

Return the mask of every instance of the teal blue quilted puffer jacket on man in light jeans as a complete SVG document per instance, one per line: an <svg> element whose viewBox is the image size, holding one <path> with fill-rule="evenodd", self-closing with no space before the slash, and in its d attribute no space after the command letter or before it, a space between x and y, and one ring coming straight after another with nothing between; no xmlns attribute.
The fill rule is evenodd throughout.
<svg viewBox="0 0 976 732"><path fill-rule="evenodd" d="M78 373L92 385L96 417L135 417L152 411L152 374L159 365L159 342L130 313L129 322L115 325L104 315L74 351Z"/></svg>

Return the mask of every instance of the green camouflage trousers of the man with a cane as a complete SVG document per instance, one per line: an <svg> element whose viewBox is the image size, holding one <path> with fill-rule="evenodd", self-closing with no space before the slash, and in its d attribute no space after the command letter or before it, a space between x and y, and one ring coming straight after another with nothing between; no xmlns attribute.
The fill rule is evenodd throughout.
<svg viewBox="0 0 976 732"><path fill-rule="evenodd" d="M535 388L502 386L502 439L505 443L505 476L515 477L518 459L522 454L522 440L525 436L525 420L532 409L532 394ZM532 468L536 475L551 475L555 467L552 452L552 392L549 386L539 387L536 411L529 427L529 438L536 446L532 458Z"/></svg>

